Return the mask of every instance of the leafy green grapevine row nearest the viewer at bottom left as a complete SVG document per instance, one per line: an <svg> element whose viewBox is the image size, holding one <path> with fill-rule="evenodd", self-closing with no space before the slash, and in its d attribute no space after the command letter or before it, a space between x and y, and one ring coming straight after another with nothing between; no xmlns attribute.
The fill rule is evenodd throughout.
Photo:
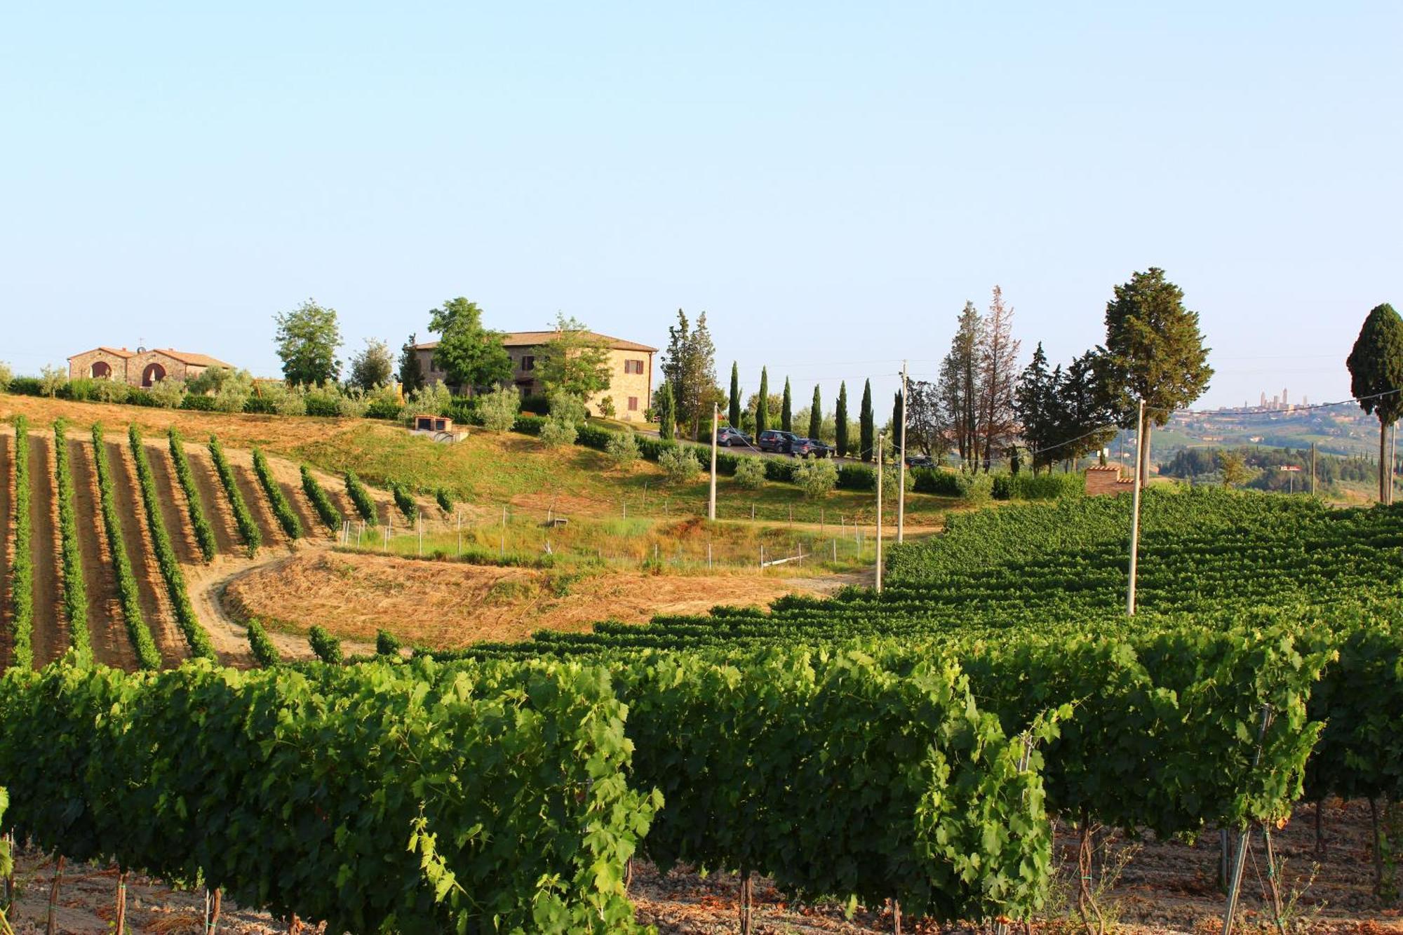
<svg viewBox="0 0 1403 935"><path fill-rule="evenodd" d="M7 825L334 932L641 931L623 875L659 800L603 670L304 668L11 672Z"/></svg>

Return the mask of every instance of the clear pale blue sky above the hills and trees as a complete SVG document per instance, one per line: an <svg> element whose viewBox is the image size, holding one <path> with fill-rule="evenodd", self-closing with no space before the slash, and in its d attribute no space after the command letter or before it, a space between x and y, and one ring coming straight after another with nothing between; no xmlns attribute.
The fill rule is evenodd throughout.
<svg viewBox="0 0 1403 935"><path fill-rule="evenodd" d="M556 313L723 385L933 378L998 284L1026 359L1162 267L1200 407L1345 399L1403 307L1403 4L6 4L0 361L175 347L276 375ZM856 402L853 403L856 406ZM882 411L878 404L878 411Z"/></svg>

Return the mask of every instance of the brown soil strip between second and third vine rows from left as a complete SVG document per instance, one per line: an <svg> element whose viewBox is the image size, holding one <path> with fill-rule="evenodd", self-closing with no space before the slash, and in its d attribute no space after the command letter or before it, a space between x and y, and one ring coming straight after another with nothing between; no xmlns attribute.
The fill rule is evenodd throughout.
<svg viewBox="0 0 1403 935"><path fill-rule="evenodd" d="M88 633L98 663L136 668L136 653L122 622L112 570L112 546L102 525L102 507L93 466L93 444L69 438L69 462L73 466L73 508L77 514L83 549L83 580L88 592Z"/></svg>

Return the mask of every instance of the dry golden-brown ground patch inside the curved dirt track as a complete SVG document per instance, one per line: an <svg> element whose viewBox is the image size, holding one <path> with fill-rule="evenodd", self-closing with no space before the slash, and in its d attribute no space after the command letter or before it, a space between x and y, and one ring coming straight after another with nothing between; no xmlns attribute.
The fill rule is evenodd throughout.
<svg viewBox="0 0 1403 935"><path fill-rule="evenodd" d="M810 591L762 576L609 571L577 580L561 571L316 550L239 577L224 590L224 605L239 622L258 618L297 633L320 623L366 643L383 628L407 644L446 649L525 639L537 629L584 630L603 619L641 623L717 604L763 605L796 590Z"/></svg>

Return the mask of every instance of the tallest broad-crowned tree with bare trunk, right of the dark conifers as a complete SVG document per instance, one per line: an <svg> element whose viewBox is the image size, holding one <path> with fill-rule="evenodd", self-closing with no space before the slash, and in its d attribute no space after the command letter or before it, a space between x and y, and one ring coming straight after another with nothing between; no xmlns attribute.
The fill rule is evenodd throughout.
<svg viewBox="0 0 1403 935"><path fill-rule="evenodd" d="M1106 303L1104 364L1121 425L1135 424L1138 402L1145 400L1143 483L1149 479L1153 427L1198 399L1214 375L1198 313L1184 307L1184 291L1159 267L1115 286L1115 296Z"/></svg>

